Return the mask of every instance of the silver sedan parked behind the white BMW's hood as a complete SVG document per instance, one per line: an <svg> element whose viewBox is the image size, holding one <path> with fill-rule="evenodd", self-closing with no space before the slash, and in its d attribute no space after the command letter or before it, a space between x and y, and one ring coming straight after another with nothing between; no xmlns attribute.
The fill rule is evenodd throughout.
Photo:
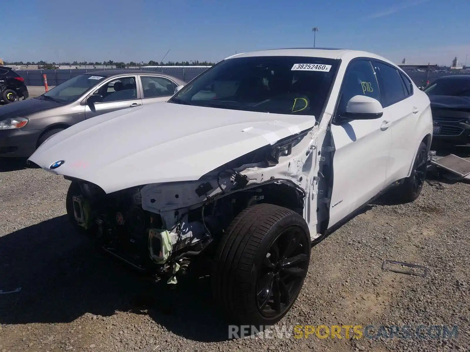
<svg viewBox="0 0 470 352"><path fill-rule="evenodd" d="M29 157L47 138L97 115L168 100L186 82L144 70L73 77L39 97L0 109L0 157Z"/></svg>

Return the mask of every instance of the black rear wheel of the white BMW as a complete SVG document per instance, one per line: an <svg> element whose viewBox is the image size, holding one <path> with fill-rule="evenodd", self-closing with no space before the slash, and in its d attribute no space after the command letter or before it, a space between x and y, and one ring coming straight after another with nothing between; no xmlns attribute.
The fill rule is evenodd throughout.
<svg viewBox="0 0 470 352"><path fill-rule="evenodd" d="M418 199L426 180L426 171L428 163L428 149L424 142L421 142L416 153L411 175L394 190L399 203L410 203Z"/></svg>

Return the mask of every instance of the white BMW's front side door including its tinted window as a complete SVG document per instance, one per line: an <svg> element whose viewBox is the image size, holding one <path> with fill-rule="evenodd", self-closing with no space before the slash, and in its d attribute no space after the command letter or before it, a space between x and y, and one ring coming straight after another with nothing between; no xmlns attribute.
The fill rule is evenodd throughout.
<svg viewBox="0 0 470 352"><path fill-rule="evenodd" d="M388 117L344 120L349 99L366 95L380 101L376 73L368 59L351 61L345 71L339 101L330 126L334 141L333 191L329 226L364 205L384 188L388 154L392 143L384 126Z"/></svg>

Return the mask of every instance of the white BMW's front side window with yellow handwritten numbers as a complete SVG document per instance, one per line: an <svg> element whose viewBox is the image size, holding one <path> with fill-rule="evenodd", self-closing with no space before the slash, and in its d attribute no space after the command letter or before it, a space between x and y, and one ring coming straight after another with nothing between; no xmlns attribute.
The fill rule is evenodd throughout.
<svg viewBox="0 0 470 352"><path fill-rule="evenodd" d="M356 95L365 95L380 101L376 73L370 61L353 61L346 69L338 106L340 114L346 111L349 99Z"/></svg>

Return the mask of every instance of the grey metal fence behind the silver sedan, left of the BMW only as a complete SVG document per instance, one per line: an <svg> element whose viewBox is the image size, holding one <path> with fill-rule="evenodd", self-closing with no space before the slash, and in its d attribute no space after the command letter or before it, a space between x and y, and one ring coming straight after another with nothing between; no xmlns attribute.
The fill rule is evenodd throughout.
<svg viewBox="0 0 470 352"><path fill-rule="evenodd" d="M157 69L142 68L142 71L155 71L165 73L176 78L189 82L206 70L206 68L165 68L164 66ZM87 72L103 71L102 69L34 69L34 70L16 70L21 77L24 78L26 85L44 85L42 75L47 75L48 85L59 85L65 81Z"/></svg>

